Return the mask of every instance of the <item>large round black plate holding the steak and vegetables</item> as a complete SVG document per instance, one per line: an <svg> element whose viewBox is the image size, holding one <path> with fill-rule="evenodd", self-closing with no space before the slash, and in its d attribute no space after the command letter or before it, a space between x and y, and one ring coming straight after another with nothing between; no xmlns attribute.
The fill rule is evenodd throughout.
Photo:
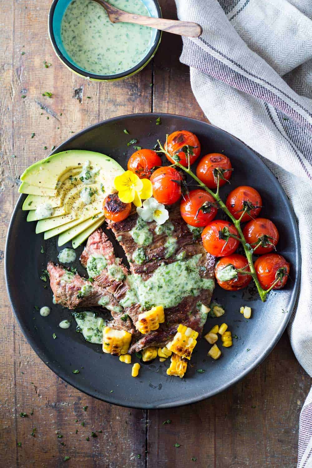
<svg viewBox="0 0 312 468"><path fill-rule="evenodd" d="M158 138L164 141L166 133L186 129L196 133L202 154L224 153L235 169L231 186L226 184L221 195L226 197L238 185L251 185L261 193L264 208L261 216L272 219L280 232L278 252L291 264L290 280L283 290L271 292L262 303L253 291L227 292L219 287L213 298L225 306L221 319L208 319L205 329L226 322L233 335L233 346L222 348L217 361L207 357L210 345L200 340L191 360L192 366L183 379L168 377L169 362L155 359L141 365L138 378L131 377L131 366L118 358L103 354L101 346L84 341L75 332L75 323L67 330L58 323L71 318L67 309L52 304L50 287L44 289L40 280L48 260L57 261L57 237L48 241L35 234L36 223L27 223L27 212L22 211L25 196L21 195L12 215L7 234L6 279L16 319L29 344L53 372L81 391L106 402L135 408L165 408L179 406L208 398L237 382L268 356L283 333L293 309L300 272L300 245L294 213L288 198L276 177L260 159L238 139L212 125L187 117L160 114L135 114L116 117L83 130L59 146L54 153L69 149L85 149L108 154L126 168L128 157L134 151L127 143L137 138L142 147L151 148ZM129 135L123 132L126 128ZM70 243L68 244L70 245ZM41 246L44 254L40 253ZM63 249L62 247L61 249ZM74 266L85 273L79 264L83 247L77 249ZM17 274L18 272L18 274ZM48 317L41 317L34 306L51 307ZM239 307L252 307L251 320L244 320ZM53 339L52 335L57 335ZM136 358L132 359L135 362ZM73 369L80 373L74 374ZM196 372L203 369L204 373Z"/></svg>

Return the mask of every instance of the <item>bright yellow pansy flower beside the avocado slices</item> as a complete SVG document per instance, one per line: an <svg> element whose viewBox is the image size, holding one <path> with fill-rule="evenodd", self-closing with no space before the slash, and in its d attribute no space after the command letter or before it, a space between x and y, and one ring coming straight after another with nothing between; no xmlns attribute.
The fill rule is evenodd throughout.
<svg viewBox="0 0 312 468"><path fill-rule="evenodd" d="M114 185L123 203L133 202L136 206L142 206L142 198L145 200L152 197L152 182L149 179L140 179L132 171L116 176Z"/></svg>

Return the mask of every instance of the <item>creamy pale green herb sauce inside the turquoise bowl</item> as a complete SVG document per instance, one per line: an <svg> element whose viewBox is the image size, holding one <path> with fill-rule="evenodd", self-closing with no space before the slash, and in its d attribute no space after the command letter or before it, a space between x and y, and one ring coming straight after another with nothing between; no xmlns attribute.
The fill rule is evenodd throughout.
<svg viewBox="0 0 312 468"><path fill-rule="evenodd" d="M112 0L112 5L150 16L141 0ZM71 59L87 72L110 75L129 70L144 59L152 29L139 24L112 23L94 1L73 0L61 22L61 39Z"/></svg>

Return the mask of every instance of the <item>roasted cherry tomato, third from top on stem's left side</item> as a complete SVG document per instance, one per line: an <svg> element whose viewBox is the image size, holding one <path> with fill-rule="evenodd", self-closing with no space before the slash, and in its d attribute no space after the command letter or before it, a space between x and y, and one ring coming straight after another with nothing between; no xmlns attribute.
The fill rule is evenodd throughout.
<svg viewBox="0 0 312 468"><path fill-rule="evenodd" d="M190 226L203 227L216 217L218 208L208 192L197 189L189 192L181 201L180 212Z"/></svg>

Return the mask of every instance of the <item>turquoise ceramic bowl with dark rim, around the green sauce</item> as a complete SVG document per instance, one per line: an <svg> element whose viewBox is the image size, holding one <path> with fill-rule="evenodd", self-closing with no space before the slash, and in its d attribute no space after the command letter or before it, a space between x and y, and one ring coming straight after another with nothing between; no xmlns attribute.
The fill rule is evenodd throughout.
<svg viewBox="0 0 312 468"><path fill-rule="evenodd" d="M72 0L54 0L49 12L49 37L52 47L58 58L69 68L73 73L76 73L87 80L93 81L116 81L127 78L135 73L138 73L144 68L155 55L160 44L161 32L158 29L152 30L152 38L150 47L144 59L137 65L122 73L112 75L97 75L90 73L78 66L73 59L68 55L61 39L61 22L66 8ZM154 18L161 18L161 10L157 0L142 0L147 7L149 14Z"/></svg>

